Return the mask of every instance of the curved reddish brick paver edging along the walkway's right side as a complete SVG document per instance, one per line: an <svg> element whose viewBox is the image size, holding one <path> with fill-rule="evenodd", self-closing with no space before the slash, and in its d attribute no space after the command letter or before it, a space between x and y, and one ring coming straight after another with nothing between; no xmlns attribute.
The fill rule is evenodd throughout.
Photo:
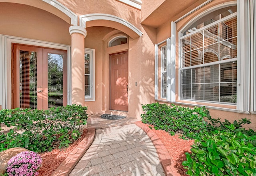
<svg viewBox="0 0 256 176"><path fill-rule="evenodd" d="M148 127L148 125L142 123L142 121L136 121L135 124L138 127L140 127L152 141L154 147L156 148L156 152L158 153L159 160L164 169L164 173L167 176L180 176L180 174L177 173L177 170L174 167L175 164L170 154L168 153L166 147L164 146L162 141L159 139L159 137Z"/></svg>

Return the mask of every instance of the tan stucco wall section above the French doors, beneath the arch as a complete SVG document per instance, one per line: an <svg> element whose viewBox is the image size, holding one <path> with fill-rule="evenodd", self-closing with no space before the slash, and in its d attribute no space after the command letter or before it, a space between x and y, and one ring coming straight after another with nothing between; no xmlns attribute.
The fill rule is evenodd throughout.
<svg viewBox="0 0 256 176"><path fill-rule="evenodd" d="M0 34L71 45L70 24L23 4L0 2Z"/></svg>

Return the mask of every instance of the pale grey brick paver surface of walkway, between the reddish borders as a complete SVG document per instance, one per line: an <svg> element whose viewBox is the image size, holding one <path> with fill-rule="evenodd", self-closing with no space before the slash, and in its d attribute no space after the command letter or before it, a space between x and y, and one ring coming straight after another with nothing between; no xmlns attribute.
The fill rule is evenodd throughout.
<svg viewBox="0 0 256 176"><path fill-rule="evenodd" d="M97 129L94 142L69 176L164 176L156 149L135 124Z"/></svg>

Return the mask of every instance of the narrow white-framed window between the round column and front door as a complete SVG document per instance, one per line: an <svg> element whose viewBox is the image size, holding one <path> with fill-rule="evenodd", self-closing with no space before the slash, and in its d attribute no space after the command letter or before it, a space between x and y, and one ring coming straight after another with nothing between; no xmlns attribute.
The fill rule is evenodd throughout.
<svg viewBox="0 0 256 176"><path fill-rule="evenodd" d="M84 50L84 99L95 100L94 50Z"/></svg>

